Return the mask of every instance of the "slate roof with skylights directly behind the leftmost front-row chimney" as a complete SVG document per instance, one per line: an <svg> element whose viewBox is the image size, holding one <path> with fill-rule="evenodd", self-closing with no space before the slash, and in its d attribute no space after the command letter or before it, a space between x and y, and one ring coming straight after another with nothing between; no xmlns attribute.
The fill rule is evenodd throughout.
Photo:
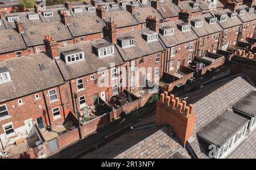
<svg viewBox="0 0 256 170"><path fill-rule="evenodd" d="M27 47L44 44L44 35L50 34L57 42L72 39L68 27L61 22L41 23L24 27L22 36Z"/></svg>

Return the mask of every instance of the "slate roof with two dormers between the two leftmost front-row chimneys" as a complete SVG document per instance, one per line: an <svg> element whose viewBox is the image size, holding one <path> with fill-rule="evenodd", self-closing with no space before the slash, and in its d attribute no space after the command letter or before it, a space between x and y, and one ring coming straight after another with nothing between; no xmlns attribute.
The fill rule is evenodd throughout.
<svg viewBox="0 0 256 170"><path fill-rule="evenodd" d="M56 59L57 65L59 65L64 79L71 80L73 78L85 76L90 73L96 73L100 67L110 68L110 63L115 63L115 66L123 64L123 60L116 48L114 49L115 52L113 56L107 56L103 58L99 58L95 52L93 52L92 46L106 42L107 41L104 39L98 39L60 47L60 52L70 51L72 49L80 49L81 51L84 51L85 56L85 60L72 64L66 64L60 58Z"/></svg>

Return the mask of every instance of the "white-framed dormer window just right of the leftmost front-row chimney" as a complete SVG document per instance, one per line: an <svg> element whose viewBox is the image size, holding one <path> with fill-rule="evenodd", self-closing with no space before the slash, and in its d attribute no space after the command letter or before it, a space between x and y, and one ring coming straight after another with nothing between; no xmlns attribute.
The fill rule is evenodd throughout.
<svg viewBox="0 0 256 170"><path fill-rule="evenodd" d="M67 64L75 63L76 61L84 60L84 52L79 49L61 52Z"/></svg>

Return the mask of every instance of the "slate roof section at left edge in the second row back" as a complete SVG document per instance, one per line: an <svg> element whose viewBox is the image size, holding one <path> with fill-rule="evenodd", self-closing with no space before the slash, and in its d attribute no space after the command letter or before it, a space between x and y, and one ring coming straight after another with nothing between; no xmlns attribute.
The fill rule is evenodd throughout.
<svg viewBox="0 0 256 170"><path fill-rule="evenodd" d="M27 49L22 36L13 29L0 31L0 53L19 51Z"/></svg>

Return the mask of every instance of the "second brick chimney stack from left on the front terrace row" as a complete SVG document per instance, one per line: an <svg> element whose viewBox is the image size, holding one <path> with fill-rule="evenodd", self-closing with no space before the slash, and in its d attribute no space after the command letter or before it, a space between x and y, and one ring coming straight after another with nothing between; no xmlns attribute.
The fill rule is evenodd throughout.
<svg viewBox="0 0 256 170"><path fill-rule="evenodd" d="M107 22L106 26L103 27L104 37L108 37L111 43L117 42L117 24L114 23L112 18Z"/></svg>

